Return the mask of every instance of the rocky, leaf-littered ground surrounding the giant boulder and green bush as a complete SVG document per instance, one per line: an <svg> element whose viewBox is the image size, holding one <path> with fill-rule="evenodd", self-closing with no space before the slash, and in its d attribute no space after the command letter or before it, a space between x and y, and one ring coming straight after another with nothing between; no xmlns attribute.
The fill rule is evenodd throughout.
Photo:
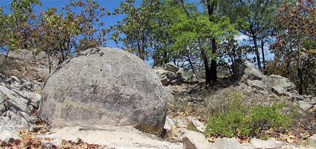
<svg viewBox="0 0 316 149"><path fill-rule="evenodd" d="M164 75L158 71L168 90L168 115L160 136L133 127L65 127L48 131L40 121L38 108L41 87L48 75L45 53L36 60L32 52L20 50L9 54L10 67L0 74L0 148L6 149L314 149L316 148L315 97L294 92L271 92L253 82L220 78L205 89L203 80L182 72ZM3 55L1 56L1 58ZM54 60L53 66L57 66ZM162 76L164 75L164 76ZM172 79L170 79L172 78ZM186 83L179 83L183 80ZM277 89L277 88L276 88ZM208 117L226 104L227 96L237 92L242 104L270 105L285 102L293 124L286 130L264 132L268 138L221 138L205 136ZM280 93L278 95L278 93ZM21 129L28 128L28 129ZM259 140L262 139L262 140ZM270 140L266 140L270 139ZM266 140L266 141L264 141Z"/></svg>

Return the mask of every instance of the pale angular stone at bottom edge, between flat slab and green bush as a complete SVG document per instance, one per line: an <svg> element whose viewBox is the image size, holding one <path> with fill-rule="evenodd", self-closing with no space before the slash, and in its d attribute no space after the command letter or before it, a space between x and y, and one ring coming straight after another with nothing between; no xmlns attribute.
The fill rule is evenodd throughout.
<svg viewBox="0 0 316 149"><path fill-rule="evenodd" d="M186 131L182 143L184 149L212 149L212 144L205 139L204 135L195 131Z"/></svg>

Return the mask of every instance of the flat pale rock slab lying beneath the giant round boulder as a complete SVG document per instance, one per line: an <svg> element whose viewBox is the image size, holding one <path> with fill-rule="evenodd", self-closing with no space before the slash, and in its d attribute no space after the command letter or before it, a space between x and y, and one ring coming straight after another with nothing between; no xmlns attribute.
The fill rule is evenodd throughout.
<svg viewBox="0 0 316 149"><path fill-rule="evenodd" d="M106 145L106 149L182 149L181 145L158 141L157 136L141 132L132 126L64 127L38 137Z"/></svg>

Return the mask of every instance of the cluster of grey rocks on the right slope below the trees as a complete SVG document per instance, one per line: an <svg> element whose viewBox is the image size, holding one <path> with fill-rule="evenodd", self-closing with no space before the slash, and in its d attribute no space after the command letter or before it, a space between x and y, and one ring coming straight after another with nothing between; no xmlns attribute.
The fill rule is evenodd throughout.
<svg viewBox="0 0 316 149"><path fill-rule="evenodd" d="M288 100L295 102L304 111L310 110L316 105L315 96L297 95L296 85L286 77L280 75L266 76L252 63L239 58L232 64L234 77L248 86L259 91L273 92L277 96L287 96Z"/></svg>

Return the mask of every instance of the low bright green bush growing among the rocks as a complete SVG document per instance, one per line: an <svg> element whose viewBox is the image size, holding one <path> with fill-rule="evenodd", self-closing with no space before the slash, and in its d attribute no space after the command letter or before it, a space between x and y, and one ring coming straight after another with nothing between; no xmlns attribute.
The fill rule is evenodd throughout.
<svg viewBox="0 0 316 149"><path fill-rule="evenodd" d="M206 134L226 137L260 137L263 130L285 128L291 120L278 111L284 107L284 104L258 105L248 110L240 105L240 99L242 99L240 94L232 92L227 98L230 105L224 111L214 113L209 118Z"/></svg>

